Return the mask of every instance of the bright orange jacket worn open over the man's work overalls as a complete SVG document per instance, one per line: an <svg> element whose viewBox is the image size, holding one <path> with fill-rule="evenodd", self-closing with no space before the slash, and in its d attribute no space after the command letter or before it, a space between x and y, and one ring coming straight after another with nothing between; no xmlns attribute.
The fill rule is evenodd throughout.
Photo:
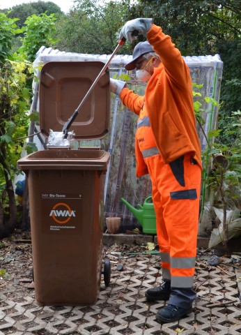
<svg viewBox="0 0 241 335"><path fill-rule="evenodd" d="M120 99L139 115L145 101L155 143L164 163L175 161L187 153L192 154L200 167L201 147L196 133L196 120L192 98L192 79L180 51L162 28L152 25L148 42L160 56L161 63L154 68L145 96L130 89L120 91ZM148 174L136 137L137 177Z"/></svg>

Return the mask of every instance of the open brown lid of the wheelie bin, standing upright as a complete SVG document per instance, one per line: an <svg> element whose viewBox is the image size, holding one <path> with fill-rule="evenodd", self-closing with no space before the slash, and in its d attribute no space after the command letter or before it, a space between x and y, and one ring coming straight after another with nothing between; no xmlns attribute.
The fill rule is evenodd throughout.
<svg viewBox="0 0 241 335"><path fill-rule="evenodd" d="M63 126L104 67L101 61L50 61L40 74L40 129L45 136ZM77 140L103 137L109 131L110 86L107 69L79 109L68 131Z"/></svg>

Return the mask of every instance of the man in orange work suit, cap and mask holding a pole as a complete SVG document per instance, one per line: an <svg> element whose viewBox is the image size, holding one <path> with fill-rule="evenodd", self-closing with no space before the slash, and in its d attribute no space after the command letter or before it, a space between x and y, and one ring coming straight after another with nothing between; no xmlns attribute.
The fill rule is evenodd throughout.
<svg viewBox="0 0 241 335"><path fill-rule="evenodd" d="M136 31L146 42L134 47L126 70L147 82L145 96L111 79L111 91L139 115L137 177L150 174L163 283L146 291L152 301L169 300L158 322L180 320L192 311L201 186L201 149L196 133L189 68L170 36L149 18L128 21L120 31L132 43ZM134 33L134 34L133 34Z"/></svg>

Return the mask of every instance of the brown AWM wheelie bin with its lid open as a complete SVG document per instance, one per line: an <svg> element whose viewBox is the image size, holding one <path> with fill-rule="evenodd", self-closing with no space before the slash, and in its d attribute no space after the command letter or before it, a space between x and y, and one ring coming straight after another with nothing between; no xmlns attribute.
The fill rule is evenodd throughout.
<svg viewBox="0 0 241 335"><path fill-rule="evenodd" d="M40 129L59 132L86 94L101 62L49 62L40 75ZM75 140L109 130L109 71L84 103L71 130ZM95 304L102 273L104 177L109 153L100 147L53 147L21 158L26 173L36 301ZM106 278L110 276L107 262ZM106 283L108 285L108 283Z"/></svg>

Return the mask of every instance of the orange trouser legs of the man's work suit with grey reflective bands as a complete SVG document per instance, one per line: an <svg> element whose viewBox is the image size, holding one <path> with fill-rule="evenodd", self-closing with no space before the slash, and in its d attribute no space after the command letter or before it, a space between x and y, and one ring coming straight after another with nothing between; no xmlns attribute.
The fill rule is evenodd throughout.
<svg viewBox="0 0 241 335"><path fill-rule="evenodd" d="M171 280L171 288L192 288L201 168L189 154L170 164L159 154L144 159L153 185L162 278Z"/></svg>

